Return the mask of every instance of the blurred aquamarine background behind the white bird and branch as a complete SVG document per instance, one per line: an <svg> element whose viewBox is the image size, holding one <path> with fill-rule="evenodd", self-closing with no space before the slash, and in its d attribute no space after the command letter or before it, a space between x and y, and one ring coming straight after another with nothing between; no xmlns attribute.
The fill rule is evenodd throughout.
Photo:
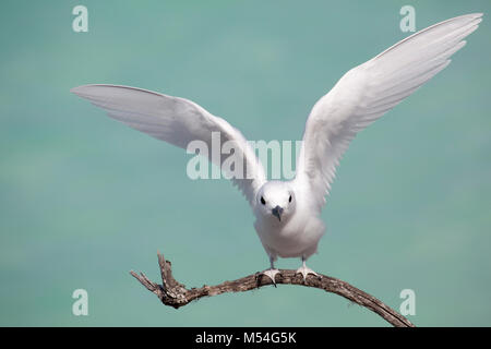
<svg viewBox="0 0 491 349"><path fill-rule="evenodd" d="M72 32L88 8L89 32ZM163 306L156 252L190 287L267 266L247 202L191 181L189 156L69 93L87 83L190 98L251 140L297 140L350 68L417 29L490 1L2 1L0 325L385 326L345 299L263 288ZM491 325L490 23L443 73L352 142L310 261L417 325ZM218 219L221 217L221 219ZM282 260L279 267L297 267ZM89 315L73 316L74 289Z"/></svg>

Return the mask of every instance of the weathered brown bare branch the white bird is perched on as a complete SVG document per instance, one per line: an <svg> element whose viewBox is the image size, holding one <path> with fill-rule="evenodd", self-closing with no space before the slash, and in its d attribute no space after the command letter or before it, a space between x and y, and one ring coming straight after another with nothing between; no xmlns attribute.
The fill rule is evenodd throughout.
<svg viewBox="0 0 491 349"><path fill-rule="evenodd" d="M171 270L171 264L158 253L158 264L160 266L160 275L163 285L151 281L143 273L136 274L130 272L143 286L151 292L157 294L165 305L176 309L183 306L202 297L217 296L225 292L246 292L263 286L273 285L272 280L260 273L255 273L233 281L225 281L216 286L203 286L201 288L187 289L184 285L178 282ZM319 274L319 277L309 275L303 281L303 276L297 274L296 270L280 269L276 275L276 284L299 285L314 287L326 292L339 294L354 303L370 309L372 312L382 316L385 321L396 327L415 327L406 317L378 300L376 298L359 290L358 288L336 279L334 277Z"/></svg>

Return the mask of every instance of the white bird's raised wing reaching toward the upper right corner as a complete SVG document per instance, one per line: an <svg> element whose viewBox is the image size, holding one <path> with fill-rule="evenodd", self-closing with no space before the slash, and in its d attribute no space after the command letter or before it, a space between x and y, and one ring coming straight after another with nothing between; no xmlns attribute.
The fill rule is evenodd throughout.
<svg viewBox="0 0 491 349"><path fill-rule="evenodd" d="M308 188L319 207L356 134L447 67L481 16L462 15L407 37L351 69L315 104L307 120L296 181Z"/></svg>

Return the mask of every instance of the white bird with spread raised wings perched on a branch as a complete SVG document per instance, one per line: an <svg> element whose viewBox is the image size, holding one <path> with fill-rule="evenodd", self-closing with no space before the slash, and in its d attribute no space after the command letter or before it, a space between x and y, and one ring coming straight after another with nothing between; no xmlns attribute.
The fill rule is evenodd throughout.
<svg viewBox="0 0 491 349"><path fill-rule="evenodd" d="M312 108L290 181L267 181L240 131L191 100L117 85L85 85L71 92L106 109L109 117L182 148L194 140L211 148L212 132L233 141L248 176L231 180L255 215L254 228L271 262L263 274L275 282L277 257L300 257L302 266L297 272L306 279L308 274L316 275L306 261L316 252L324 233L321 209L350 141L446 68L481 16L467 14L434 24L348 71Z"/></svg>

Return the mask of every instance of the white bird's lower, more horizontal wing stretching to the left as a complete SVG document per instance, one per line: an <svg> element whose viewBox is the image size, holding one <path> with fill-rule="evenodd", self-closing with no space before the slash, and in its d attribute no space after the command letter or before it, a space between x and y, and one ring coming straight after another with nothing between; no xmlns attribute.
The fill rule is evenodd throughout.
<svg viewBox="0 0 491 349"><path fill-rule="evenodd" d="M224 155L219 149L219 155L212 159L212 154L217 154L216 149L212 149L212 139L218 140L218 136L221 145L230 141L233 156L243 159L242 173L235 171L231 180L251 205L254 203L256 191L265 182L263 166L242 133L224 119L211 115L191 100L129 86L86 85L71 92L105 109L109 117L155 139L184 149L192 141L204 142L209 160L220 168L230 155ZM214 146L216 144L215 141Z"/></svg>

